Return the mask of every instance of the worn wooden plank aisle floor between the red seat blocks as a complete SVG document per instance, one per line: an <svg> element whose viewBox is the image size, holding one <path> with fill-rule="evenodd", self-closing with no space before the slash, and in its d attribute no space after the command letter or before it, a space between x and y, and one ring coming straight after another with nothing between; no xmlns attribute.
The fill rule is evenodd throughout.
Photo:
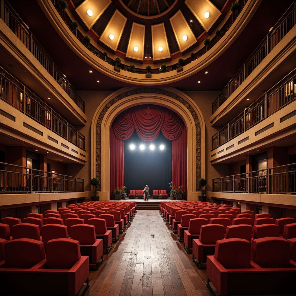
<svg viewBox="0 0 296 296"><path fill-rule="evenodd" d="M97 271L86 296L210 295L199 270L158 210L138 210Z"/></svg>

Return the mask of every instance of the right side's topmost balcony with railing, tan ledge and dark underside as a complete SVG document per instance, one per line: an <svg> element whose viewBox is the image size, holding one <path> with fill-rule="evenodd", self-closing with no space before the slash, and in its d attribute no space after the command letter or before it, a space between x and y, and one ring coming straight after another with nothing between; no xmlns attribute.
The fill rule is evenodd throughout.
<svg viewBox="0 0 296 296"><path fill-rule="evenodd" d="M294 69L295 36L294 2L213 102L213 126L226 124L229 116L236 117L279 77Z"/></svg>

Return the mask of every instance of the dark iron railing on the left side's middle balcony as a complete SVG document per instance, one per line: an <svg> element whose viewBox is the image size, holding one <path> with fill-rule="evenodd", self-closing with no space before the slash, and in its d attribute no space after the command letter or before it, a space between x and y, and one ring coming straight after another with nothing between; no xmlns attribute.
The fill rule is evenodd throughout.
<svg viewBox="0 0 296 296"><path fill-rule="evenodd" d="M0 67L0 99L85 150L85 137L2 67Z"/></svg>

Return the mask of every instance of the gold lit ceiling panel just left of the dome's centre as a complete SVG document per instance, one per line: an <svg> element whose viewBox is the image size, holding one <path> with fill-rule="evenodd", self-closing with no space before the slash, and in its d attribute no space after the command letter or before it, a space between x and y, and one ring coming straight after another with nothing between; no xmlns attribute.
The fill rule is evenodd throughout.
<svg viewBox="0 0 296 296"><path fill-rule="evenodd" d="M140 25L133 22L133 26L131 28L131 35L128 41L126 57L129 57L131 59L143 60L144 41L145 41L145 25ZM134 51L135 46L139 49L137 52Z"/></svg>

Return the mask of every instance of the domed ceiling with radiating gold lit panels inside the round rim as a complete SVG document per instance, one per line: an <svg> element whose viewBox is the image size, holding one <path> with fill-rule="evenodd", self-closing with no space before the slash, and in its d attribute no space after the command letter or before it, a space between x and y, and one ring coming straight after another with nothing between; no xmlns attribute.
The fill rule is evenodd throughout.
<svg viewBox="0 0 296 296"><path fill-rule="evenodd" d="M73 15L99 45L141 63L180 57L224 18L226 0L73 0ZM229 11L229 7L228 7Z"/></svg>

